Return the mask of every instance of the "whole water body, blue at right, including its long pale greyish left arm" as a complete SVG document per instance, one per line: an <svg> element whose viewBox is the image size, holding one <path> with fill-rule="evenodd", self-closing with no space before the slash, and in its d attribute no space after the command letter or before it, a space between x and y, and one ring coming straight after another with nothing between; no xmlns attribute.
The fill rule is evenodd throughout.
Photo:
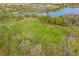
<svg viewBox="0 0 79 59"><path fill-rule="evenodd" d="M15 12L14 16L28 16L28 15L32 15L35 14L37 16L51 16L51 17L59 17L62 15L67 15L67 14L74 14L74 15L79 15L79 8L63 8L61 10L55 11L55 12Z"/></svg>

